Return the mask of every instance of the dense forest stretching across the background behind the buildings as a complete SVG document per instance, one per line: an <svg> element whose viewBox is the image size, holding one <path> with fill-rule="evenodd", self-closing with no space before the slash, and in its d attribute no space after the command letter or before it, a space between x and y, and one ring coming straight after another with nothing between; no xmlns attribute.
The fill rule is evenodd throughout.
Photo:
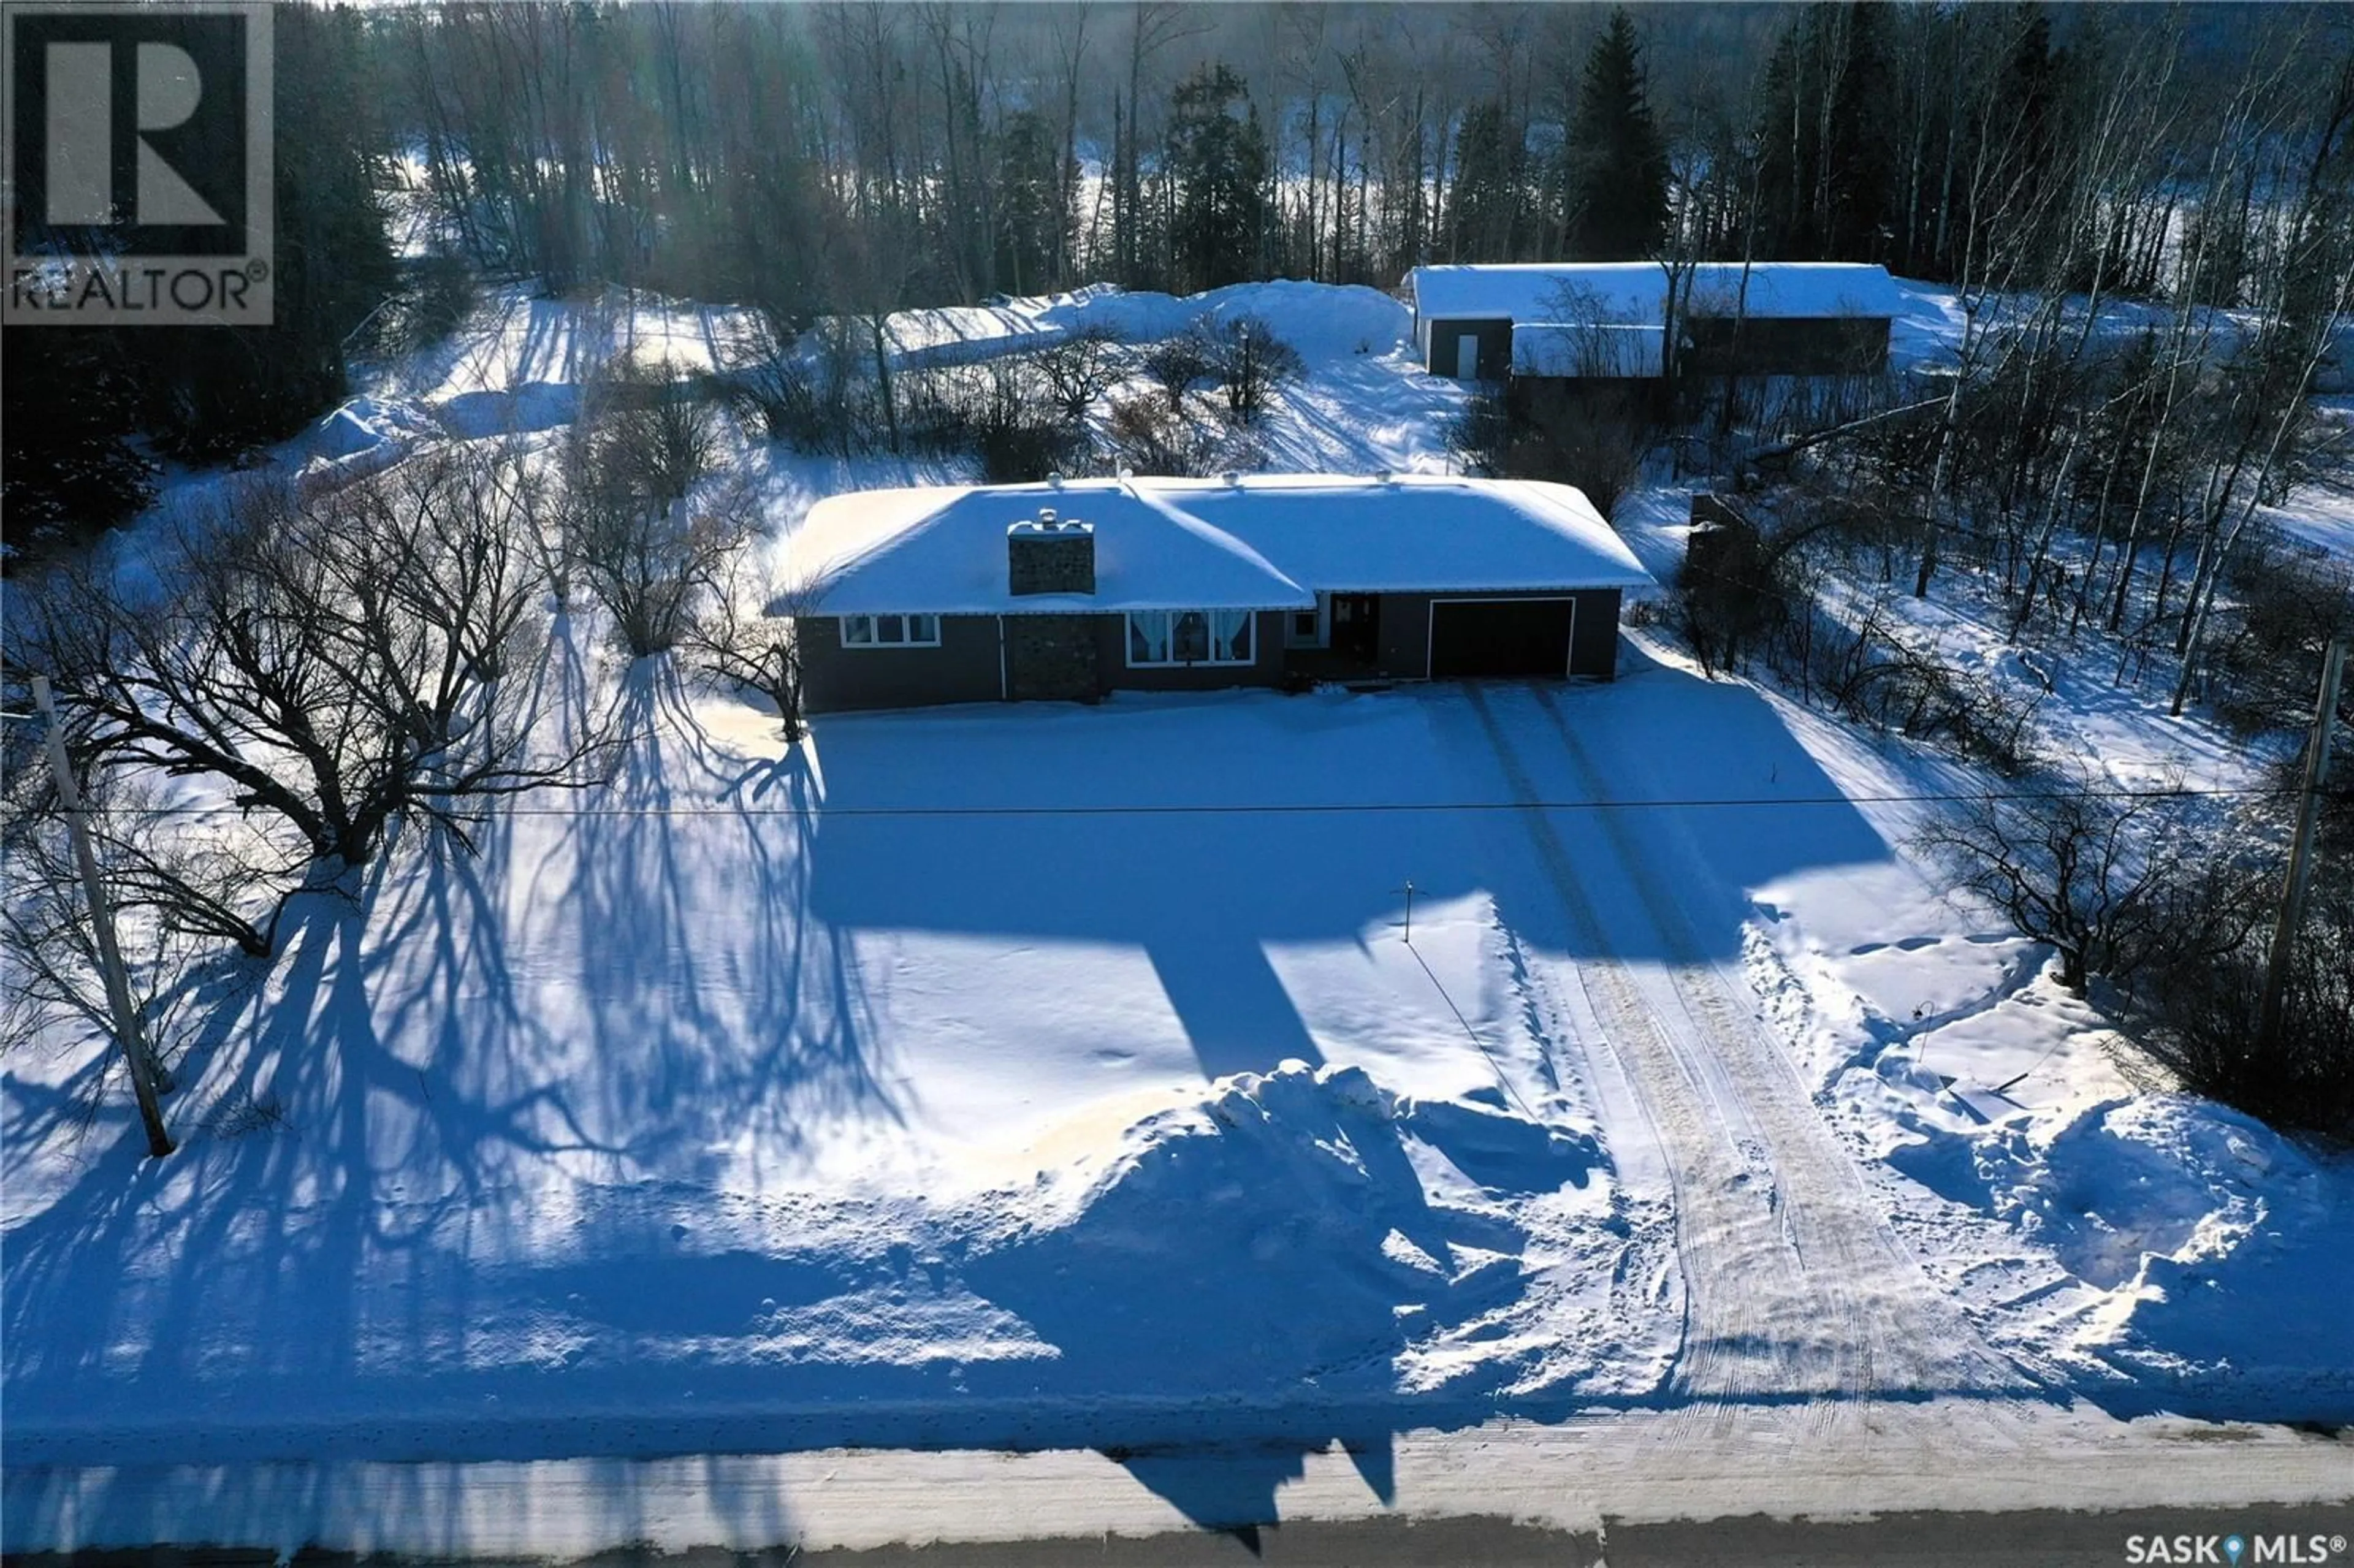
<svg viewBox="0 0 2354 1568"><path fill-rule="evenodd" d="M2163 297L2199 247L2201 301L2267 306L2342 134L2347 31L2328 7L282 7L278 325L12 327L9 539L89 537L153 459L292 433L480 275L791 334L1422 261L2029 285L2064 257L2069 287ZM428 202L433 254L391 254L395 193Z"/></svg>

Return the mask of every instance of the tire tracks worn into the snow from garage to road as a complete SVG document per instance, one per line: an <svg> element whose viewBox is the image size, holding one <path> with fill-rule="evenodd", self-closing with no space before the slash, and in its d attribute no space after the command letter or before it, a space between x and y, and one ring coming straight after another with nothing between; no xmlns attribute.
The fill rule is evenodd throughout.
<svg viewBox="0 0 2354 1568"><path fill-rule="evenodd" d="M1598 772L1551 692L1516 692L1558 732L1570 768L1601 798ZM1467 687L1504 779L1542 800L1495 699ZM1568 916L1570 975L1627 1064L1660 1135L1676 1196L1685 1274L1683 1354L1671 1389L1695 1401L1886 1394L2020 1394L2034 1384L1987 1349L1869 1205L1784 1052L1763 1036L1709 961L1655 864L1669 845L1601 812L1575 857L1549 812L1521 824ZM1596 850L1601 850L1596 855ZM1678 871L1707 866L1678 848ZM1608 902L1596 892L1624 890ZM1631 951L1662 961L1634 961ZM1535 965L1542 968L1542 965ZM1810 1422L1813 1424L1813 1422Z"/></svg>

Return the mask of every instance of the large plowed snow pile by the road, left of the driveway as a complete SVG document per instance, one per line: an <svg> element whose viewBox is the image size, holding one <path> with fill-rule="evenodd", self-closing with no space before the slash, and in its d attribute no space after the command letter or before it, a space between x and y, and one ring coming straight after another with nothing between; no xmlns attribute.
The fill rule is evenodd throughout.
<svg viewBox="0 0 2354 1568"><path fill-rule="evenodd" d="M965 1278L1059 1347L1040 1391L1638 1391L1674 1318L1622 1290L1605 1177L1589 1132L1502 1095L1417 1102L1288 1062L1135 1125Z"/></svg>

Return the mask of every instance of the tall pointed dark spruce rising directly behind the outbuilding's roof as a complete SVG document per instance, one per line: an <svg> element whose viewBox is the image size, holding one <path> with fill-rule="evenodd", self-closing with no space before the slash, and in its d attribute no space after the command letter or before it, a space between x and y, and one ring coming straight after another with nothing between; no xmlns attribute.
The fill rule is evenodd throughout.
<svg viewBox="0 0 2354 1568"><path fill-rule="evenodd" d="M1650 118L1634 21L1610 12L1577 92L1565 148L1568 250L1582 261L1638 261L1667 228L1667 144Z"/></svg>

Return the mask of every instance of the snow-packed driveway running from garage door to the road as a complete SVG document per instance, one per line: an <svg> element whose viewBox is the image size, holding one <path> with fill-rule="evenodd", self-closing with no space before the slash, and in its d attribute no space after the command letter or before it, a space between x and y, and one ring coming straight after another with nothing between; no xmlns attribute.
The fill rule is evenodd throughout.
<svg viewBox="0 0 2354 1568"><path fill-rule="evenodd" d="M1605 1085L1620 1168L1653 1175L1636 1175L1631 1154L1648 1137L1674 1191L1685 1318L1671 1389L1702 1401L2032 1389L1923 1278L1754 996L1697 930L1695 904L1740 890L1721 888L1683 822L1742 808L1634 805L1721 798L1693 777L1709 753L1603 751L1580 739L1582 716L1549 685L1462 695L1464 753L1492 756L1525 803L1511 831L1528 841L1530 876L1497 904L1530 954L1530 989L1551 1038L1582 1045L1584 1076Z"/></svg>

